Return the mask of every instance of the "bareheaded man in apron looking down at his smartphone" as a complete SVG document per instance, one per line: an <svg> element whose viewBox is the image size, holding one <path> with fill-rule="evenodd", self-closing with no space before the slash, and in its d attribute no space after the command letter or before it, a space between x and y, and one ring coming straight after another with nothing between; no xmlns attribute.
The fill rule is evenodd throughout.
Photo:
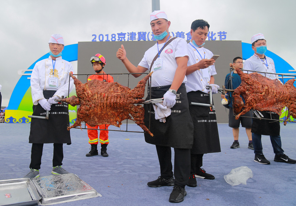
<svg viewBox="0 0 296 206"><path fill-rule="evenodd" d="M218 93L219 86L214 84L216 69L213 53L204 48L205 40L209 32L209 23L205 20L195 20L191 24L191 41L187 44L189 60L187 63L186 91L189 102L189 112L194 125L193 146L191 148L191 171L187 186L196 187L195 178L213 180L214 175L206 173L201 168L203 154L221 152L218 134L217 118L214 104L212 107L192 105L191 102L210 104L209 89L212 86L212 94Z"/></svg>

